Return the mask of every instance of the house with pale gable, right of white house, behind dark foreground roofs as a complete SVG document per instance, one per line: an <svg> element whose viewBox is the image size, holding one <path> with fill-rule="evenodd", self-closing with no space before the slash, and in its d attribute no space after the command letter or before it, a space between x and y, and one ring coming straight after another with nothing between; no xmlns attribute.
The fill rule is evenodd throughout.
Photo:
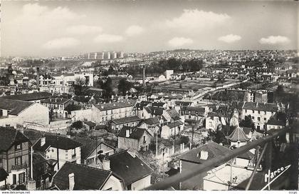
<svg viewBox="0 0 299 194"><path fill-rule="evenodd" d="M74 141L82 144L81 146L81 163L92 167L100 165L99 157L103 158L115 153L115 148L107 145L102 141L93 140L90 138L74 137ZM98 157L98 161L96 158Z"/></svg>

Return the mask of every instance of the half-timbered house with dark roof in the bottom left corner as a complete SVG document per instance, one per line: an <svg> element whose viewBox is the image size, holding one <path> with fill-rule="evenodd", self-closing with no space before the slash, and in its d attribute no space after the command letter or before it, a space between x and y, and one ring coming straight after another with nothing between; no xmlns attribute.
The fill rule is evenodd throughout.
<svg viewBox="0 0 299 194"><path fill-rule="evenodd" d="M29 139L11 127L0 127L0 187L27 183Z"/></svg>

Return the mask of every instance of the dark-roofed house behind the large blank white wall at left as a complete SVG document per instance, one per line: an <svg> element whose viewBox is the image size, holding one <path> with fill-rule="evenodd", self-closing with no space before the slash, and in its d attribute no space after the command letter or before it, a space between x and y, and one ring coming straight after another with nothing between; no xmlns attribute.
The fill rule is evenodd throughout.
<svg viewBox="0 0 299 194"><path fill-rule="evenodd" d="M43 106L49 108L50 111L53 111L54 118L67 118L68 111L65 111L65 108L70 104L70 99L66 98L47 98L41 101Z"/></svg>

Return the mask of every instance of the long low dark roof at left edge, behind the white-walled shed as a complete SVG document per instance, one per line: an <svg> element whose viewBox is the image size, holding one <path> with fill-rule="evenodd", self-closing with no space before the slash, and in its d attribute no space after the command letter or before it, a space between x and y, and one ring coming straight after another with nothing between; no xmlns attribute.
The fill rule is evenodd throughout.
<svg viewBox="0 0 299 194"><path fill-rule="evenodd" d="M41 99L50 98L51 93L48 92L35 92L35 93L23 93L18 95L4 96L2 98L20 101L38 101Z"/></svg>

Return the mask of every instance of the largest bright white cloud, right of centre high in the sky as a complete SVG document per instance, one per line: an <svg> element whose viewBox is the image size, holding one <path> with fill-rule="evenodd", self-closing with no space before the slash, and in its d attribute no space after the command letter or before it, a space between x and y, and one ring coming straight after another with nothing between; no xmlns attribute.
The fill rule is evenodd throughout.
<svg viewBox="0 0 299 194"><path fill-rule="evenodd" d="M216 14L213 11L198 9L184 9L184 13L178 18L166 21L166 26L178 29L204 29L218 24L224 24L231 19L227 14Z"/></svg>

